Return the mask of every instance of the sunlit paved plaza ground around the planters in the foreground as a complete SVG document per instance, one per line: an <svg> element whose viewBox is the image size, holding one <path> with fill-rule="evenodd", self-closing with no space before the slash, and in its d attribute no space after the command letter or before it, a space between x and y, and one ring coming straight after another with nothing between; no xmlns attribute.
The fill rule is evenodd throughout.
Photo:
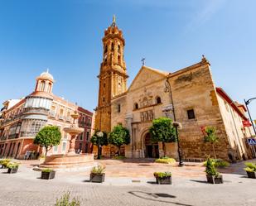
<svg viewBox="0 0 256 206"><path fill-rule="evenodd" d="M256 180L248 179L244 162L221 170L224 184L206 184L204 167L152 163L152 160L99 160L106 165L106 180L93 184L89 172L57 172L54 180L41 180L32 170L38 161L22 161L17 174L0 171L0 205L54 205L70 191L81 205L255 205ZM171 185L154 184L153 171L170 170Z"/></svg>

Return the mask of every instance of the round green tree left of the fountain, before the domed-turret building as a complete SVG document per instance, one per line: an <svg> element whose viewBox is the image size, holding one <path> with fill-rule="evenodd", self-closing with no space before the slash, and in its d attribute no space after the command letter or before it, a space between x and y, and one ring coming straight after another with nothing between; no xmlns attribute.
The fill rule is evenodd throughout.
<svg viewBox="0 0 256 206"><path fill-rule="evenodd" d="M59 127L46 126L37 133L34 139L34 144L45 147L47 156L47 152L51 150L52 146L57 146L60 144L60 139L61 133Z"/></svg>

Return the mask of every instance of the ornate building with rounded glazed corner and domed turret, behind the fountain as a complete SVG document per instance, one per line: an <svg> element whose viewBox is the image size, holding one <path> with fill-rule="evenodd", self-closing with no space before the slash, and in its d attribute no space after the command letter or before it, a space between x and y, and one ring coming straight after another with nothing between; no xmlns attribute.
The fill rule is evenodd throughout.
<svg viewBox="0 0 256 206"><path fill-rule="evenodd" d="M21 159L27 151L41 153L40 147L33 144L33 139L45 125L58 126L61 132L60 145L54 146L48 154L65 154L70 137L63 129L70 127L73 122L70 114L75 111L80 114L80 121L75 123L85 128L85 132L77 137L76 149L89 151L93 113L53 94L54 82L48 71L43 72L36 78L34 92L26 98L3 103L0 115L0 156Z"/></svg>

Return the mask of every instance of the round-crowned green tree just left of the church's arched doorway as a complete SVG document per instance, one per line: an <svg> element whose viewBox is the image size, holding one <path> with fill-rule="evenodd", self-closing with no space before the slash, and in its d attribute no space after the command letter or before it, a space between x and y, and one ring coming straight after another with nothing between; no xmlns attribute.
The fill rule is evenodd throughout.
<svg viewBox="0 0 256 206"><path fill-rule="evenodd" d="M120 148L122 145L128 145L130 143L130 133L127 128L118 124L113 128L113 131L109 133L109 143L118 146L118 156L120 155Z"/></svg>

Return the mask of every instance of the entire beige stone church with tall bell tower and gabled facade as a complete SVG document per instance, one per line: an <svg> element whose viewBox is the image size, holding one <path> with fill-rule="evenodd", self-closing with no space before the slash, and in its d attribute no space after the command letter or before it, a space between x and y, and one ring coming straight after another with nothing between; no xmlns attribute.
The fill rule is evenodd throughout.
<svg viewBox="0 0 256 206"><path fill-rule="evenodd" d="M203 160L206 155L213 155L210 144L204 142L202 128L205 126L217 129L218 158L241 160L254 156L254 149L249 148L246 141L253 134L242 123L247 120L246 109L233 102L223 89L215 87L205 56L195 65L175 72L143 65L127 88L123 33L115 22L104 32L103 44L95 128L110 132L119 123L128 127L131 143L123 147L125 156L163 155L162 144L152 143L148 132L157 117L176 117L176 121L181 122L179 136L184 159ZM167 155L176 158L176 147L176 143L168 143ZM104 146L103 155L114 155L115 150L111 148Z"/></svg>

